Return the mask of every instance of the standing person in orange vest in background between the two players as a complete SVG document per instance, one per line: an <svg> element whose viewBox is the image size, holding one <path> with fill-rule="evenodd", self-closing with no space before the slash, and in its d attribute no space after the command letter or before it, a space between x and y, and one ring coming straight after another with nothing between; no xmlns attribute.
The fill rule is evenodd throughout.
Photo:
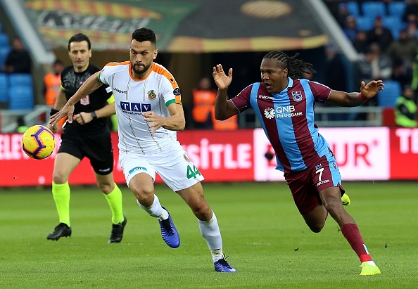
<svg viewBox="0 0 418 289"><path fill-rule="evenodd" d="M193 94L191 115L194 127L196 129L212 129L212 115L217 91L213 89L210 78L203 77L191 92Z"/></svg>

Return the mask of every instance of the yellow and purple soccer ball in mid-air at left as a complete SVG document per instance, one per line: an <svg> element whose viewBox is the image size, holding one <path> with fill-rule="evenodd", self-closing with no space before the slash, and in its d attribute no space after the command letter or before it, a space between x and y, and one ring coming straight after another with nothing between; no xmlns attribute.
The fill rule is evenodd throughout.
<svg viewBox="0 0 418 289"><path fill-rule="evenodd" d="M22 149L36 160L48 158L55 148L53 132L43 125L34 125L25 131L22 136Z"/></svg>

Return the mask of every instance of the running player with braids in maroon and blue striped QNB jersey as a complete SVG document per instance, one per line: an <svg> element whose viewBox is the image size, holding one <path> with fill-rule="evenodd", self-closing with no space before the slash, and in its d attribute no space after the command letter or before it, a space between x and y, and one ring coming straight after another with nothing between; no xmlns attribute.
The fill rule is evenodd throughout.
<svg viewBox="0 0 418 289"><path fill-rule="evenodd" d="M315 70L297 56L287 56L281 51L267 53L260 66L261 82L247 86L230 100L227 89L232 82L232 68L226 74L222 65L216 65L215 117L226 120L253 108L274 148L276 169L284 172L296 207L311 231L319 233L331 214L360 258L360 275L380 274L357 224L341 202L345 193L341 176L334 154L315 124L314 105L315 101L346 107L362 105L383 90L384 83L362 82L360 93L332 90L302 78L304 72Z"/></svg>

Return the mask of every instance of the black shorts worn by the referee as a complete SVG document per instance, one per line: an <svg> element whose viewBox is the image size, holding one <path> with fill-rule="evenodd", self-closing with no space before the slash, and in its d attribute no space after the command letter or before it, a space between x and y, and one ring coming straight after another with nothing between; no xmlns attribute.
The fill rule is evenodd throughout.
<svg viewBox="0 0 418 289"><path fill-rule="evenodd" d="M80 134L72 131L61 134L58 153L68 153L82 160L90 160L94 172L101 175L113 172L113 148L110 130L97 134Z"/></svg>

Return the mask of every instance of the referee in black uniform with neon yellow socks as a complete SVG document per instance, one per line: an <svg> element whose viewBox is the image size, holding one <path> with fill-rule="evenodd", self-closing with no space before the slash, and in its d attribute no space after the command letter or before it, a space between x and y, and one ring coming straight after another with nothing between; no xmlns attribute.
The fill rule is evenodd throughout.
<svg viewBox="0 0 418 289"><path fill-rule="evenodd" d="M72 65L61 72L61 90L51 109L51 115L61 110L75 91L100 69L90 64L91 42L84 34L75 34L68 41L68 56ZM84 96L75 104L73 119L66 123L61 135L61 147L53 166L52 195L58 212L59 224L46 237L58 240L71 236L70 186L68 179L84 157L90 160L94 169L97 186L103 192L112 211L112 231L108 243L120 243L127 223L122 210L122 192L113 180L113 149L106 117L115 114L115 103L108 103L113 97L109 86L103 85L91 95ZM48 124L57 132L56 126Z"/></svg>

